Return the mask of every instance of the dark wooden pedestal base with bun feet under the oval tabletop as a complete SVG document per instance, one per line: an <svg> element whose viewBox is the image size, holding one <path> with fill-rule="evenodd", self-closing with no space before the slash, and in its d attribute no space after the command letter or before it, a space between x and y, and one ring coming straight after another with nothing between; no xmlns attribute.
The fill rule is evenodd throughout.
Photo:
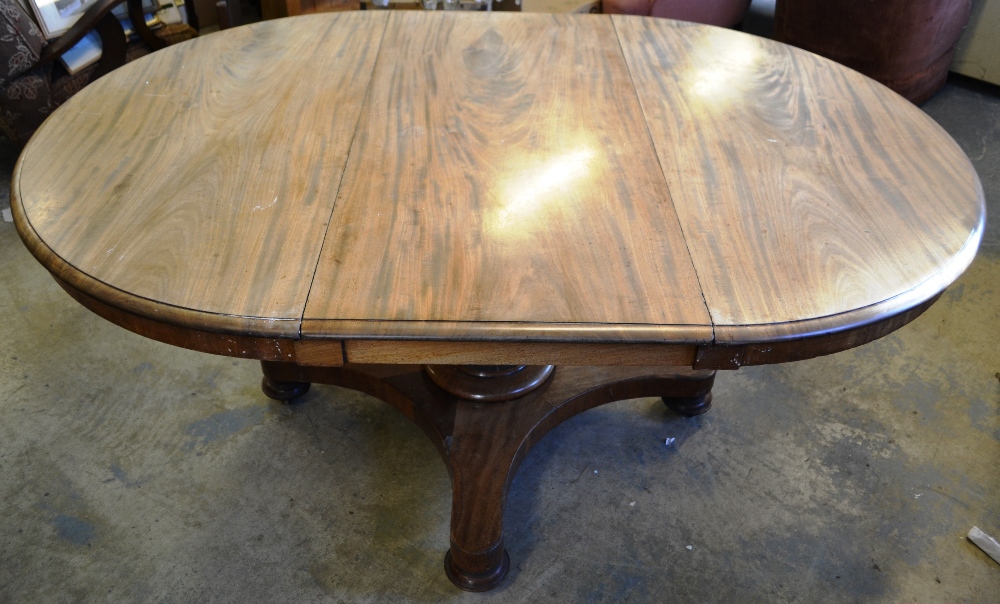
<svg viewBox="0 0 1000 604"><path fill-rule="evenodd" d="M507 488L521 460L549 430L588 409L648 396L663 397L683 415L697 415L708 410L715 381L715 371L661 367L261 365L264 393L271 398L290 400L289 394L305 393L310 383L333 384L382 399L423 428L452 479L445 572L469 591L492 589L507 575ZM500 386L491 387L492 380ZM483 388L469 390L477 383ZM501 391L507 394L498 395Z"/></svg>

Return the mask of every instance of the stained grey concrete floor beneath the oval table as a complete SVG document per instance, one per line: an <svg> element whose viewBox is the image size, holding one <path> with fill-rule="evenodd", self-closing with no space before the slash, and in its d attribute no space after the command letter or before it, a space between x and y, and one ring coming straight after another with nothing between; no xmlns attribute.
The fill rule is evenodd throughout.
<svg viewBox="0 0 1000 604"><path fill-rule="evenodd" d="M925 108L996 216L996 89ZM442 572L448 476L395 410L272 403L255 363L90 314L0 223L0 602L1000 601L964 538L1000 535L998 287L992 220L883 340L723 374L700 418L640 399L560 426L514 481L507 582L475 595Z"/></svg>

